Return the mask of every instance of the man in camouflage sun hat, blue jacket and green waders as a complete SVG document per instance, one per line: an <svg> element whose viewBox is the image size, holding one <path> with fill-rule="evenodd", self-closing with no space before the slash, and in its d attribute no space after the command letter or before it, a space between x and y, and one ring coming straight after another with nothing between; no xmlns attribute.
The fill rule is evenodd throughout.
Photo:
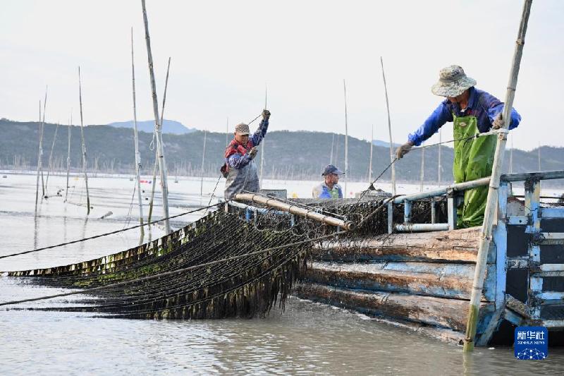
<svg viewBox="0 0 564 376"><path fill-rule="evenodd" d="M462 67L448 66L441 69L439 82L431 87L434 95L446 97L431 116L407 142L398 147L396 157L403 158L413 146L439 131L446 122L454 124L454 138L469 138L503 126L501 113L503 102L487 92L478 90L476 80L468 77ZM511 109L509 129L519 125L521 116ZM455 183L472 181L491 175L496 151L496 135L486 135L454 142L453 175ZM464 203L458 207L458 227L480 226L484 222L488 187L465 190Z"/></svg>

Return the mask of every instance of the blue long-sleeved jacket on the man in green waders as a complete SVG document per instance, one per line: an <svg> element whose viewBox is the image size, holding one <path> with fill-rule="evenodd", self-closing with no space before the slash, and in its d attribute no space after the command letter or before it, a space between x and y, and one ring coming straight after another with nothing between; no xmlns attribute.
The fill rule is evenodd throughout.
<svg viewBox="0 0 564 376"><path fill-rule="evenodd" d="M478 130L484 133L491 129L491 123L501 111L503 111L503 102L483 90L470 87L470 98L466 111L460 111L458 104L450 103L448 99L445 99L417 131L407 136L407 140L413 142L415 146L421 145L421 142L437 133L447 121L453 121L453 112L456 116L476 116ZM511 109L509 129L517 128L520 121L520 114L517 114L515 109Z"/></svg>

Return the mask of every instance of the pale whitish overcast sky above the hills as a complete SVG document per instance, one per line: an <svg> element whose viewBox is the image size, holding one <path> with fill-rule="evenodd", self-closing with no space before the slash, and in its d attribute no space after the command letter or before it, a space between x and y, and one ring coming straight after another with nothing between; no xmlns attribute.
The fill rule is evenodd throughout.
<svg viewBox="0 0 564 376"><path fill-rule="evenodd" d="M46 121L72 111L79 123L80 66L85 125L133 119L133 27L137 119L154 119L140 0L0 1L0 117L37 120L48 86ZM441 102L431 85L444 66L505 98L522 1L147 0L147 13L159 108L171 57L166 119L233 131L262 111L266 87L271 131L345 133L345 80L349 135L369 140L374 126L388 140L382 56L393 141L405 142ZM564 146L563 16L564 1L532 5L511 135L523 150Z"/></svg>

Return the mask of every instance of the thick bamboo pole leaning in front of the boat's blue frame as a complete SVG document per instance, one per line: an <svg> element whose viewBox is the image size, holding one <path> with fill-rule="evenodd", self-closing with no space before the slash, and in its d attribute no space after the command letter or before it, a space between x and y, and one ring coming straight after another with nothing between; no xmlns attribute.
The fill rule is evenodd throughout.
<svg viewBox="0 0 564 376"><path fill-rule="evenodd" d="M521 63L523 44L525 44L525 33L527 32L527 23L531 12L532 0L525 0L519 32L515 42L515 54L511 64L509 75L509 83L507 92L505 93L505 106L503 107L503 117L505 124L502 129L507 129L511 121L511 109L513 108L513 99L515 98L515 89L517 87L517 77ZM494 168L491 171L491 179L489 183L488 199L486 201L486 212L484 224L482 225L482 234L478 249L476 268L474 269L474 283L472 286L472 294L470 296L470 308L468 311L466 336L464 341L464 351L474 350L474 337L476 336L477 322L479 317L480 298L482 297L482 289L484 286L484 276L486 274L486 265L488 252L492 240L492 227L495 223L499 178L501 176L501 167L503 164L503 154L505 152L505 143L507 135L500 133L496 144L496 153L494 155Z"/></svg>

